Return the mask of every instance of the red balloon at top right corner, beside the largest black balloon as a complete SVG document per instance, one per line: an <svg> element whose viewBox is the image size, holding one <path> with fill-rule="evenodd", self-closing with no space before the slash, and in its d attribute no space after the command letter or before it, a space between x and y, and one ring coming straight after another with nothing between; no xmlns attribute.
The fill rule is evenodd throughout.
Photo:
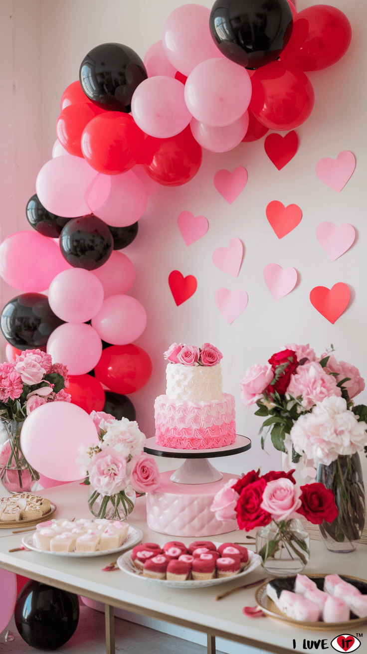
<svg viewBox="0 0 367 654"><path fill-rule="evenodd" d="M347 52L351 36L351 24L342 11L313 5L296 15L292 36L280 58L302 71L321 71Z"/></svg>

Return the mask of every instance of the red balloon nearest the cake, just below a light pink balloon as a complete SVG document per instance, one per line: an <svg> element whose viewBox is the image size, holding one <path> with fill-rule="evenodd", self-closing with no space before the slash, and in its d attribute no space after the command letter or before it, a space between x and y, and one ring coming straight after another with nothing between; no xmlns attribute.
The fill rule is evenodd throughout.
<svg viewBox="0 0 367 654"><path fill-rule="evenodd" d="M114 393L128 395L147 383L152 362L137 345L111 345L103 350L94 374Z"/></svg>

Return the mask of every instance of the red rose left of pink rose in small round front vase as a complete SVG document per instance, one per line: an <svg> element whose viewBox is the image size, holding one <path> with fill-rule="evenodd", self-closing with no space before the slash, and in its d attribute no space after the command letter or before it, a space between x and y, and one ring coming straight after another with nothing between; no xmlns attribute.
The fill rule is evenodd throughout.
<svg viewBox="0 0 367 654"><path fill-rule="evenodd" d="M236 506L237 523L240 529L251 531L254 527L264 527L271 523L270 513L260 507L265 487L266 481L258 479L241 490Z"/></svg>

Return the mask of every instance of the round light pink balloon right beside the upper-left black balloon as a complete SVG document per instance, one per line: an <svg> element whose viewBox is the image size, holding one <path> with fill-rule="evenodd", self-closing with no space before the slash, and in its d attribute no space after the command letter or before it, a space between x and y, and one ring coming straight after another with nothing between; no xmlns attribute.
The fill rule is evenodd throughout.
<svg viewBox="0 0 367 654"><path fill-rule="evenodd" d="M191 120L184 85L164 75L143 80L133 93L131 114L140 129L157 139L179 134Z"/></svg>

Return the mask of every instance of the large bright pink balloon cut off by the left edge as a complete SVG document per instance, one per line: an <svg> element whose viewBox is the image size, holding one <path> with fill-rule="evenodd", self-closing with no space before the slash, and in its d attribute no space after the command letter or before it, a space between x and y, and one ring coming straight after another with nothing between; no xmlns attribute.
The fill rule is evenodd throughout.
<svg viewBox="0 0 367 654"><path fill-rule="evenodd" d="M48 288L69 267L56 243L34 230L11 234L0 245L0 275L24 293Z"/></svg>

